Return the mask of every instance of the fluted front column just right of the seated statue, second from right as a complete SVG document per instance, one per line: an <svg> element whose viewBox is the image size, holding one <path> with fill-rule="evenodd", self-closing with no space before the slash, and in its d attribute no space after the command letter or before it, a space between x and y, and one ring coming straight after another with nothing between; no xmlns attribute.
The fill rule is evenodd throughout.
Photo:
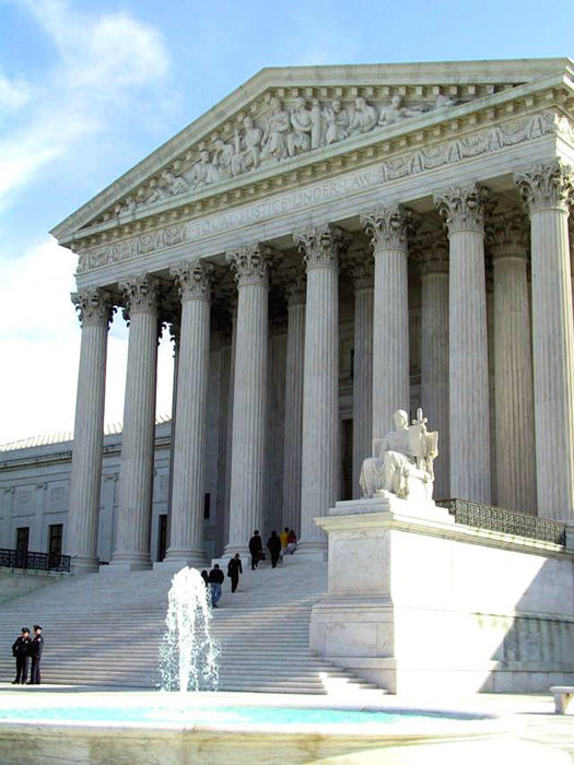
<svg viewBox="0 0 574 765"><path fill-rule="evenodd" d="M485 202L485 190L475 184L435 197L448 227L450 261L450 496L490 503Z"/></svg>

